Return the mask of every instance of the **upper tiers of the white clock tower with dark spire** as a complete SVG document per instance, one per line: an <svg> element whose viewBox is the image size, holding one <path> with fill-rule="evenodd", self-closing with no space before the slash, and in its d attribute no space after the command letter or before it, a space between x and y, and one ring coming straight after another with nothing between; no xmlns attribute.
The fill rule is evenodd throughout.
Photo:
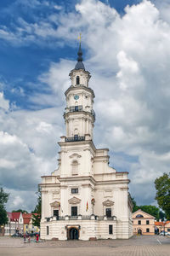
<svg viewBox="0 0 170 256"><path fill-rule="evenodd" d="M81 44L78 49L77 65L69 74L71 86L65 91L64 113L66 141L83 140L86 135L93 139L95 121L94 90L88 87L90 73L82 62Z"/></svg>

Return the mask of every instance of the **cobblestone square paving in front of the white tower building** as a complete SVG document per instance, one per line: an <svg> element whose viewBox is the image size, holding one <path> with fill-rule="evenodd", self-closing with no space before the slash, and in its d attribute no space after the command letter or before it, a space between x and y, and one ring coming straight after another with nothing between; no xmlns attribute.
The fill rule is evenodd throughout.
<svg viewBox="0 0 170 256"><path fill-rule="evenodd" d="M42 241L0 237L0 255L36 256L170 256L170 237L133 236L129 240Z"/></svg>

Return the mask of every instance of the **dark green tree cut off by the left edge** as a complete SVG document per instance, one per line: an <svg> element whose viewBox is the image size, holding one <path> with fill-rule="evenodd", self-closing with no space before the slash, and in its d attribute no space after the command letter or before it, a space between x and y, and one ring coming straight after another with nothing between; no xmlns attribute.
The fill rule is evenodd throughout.
<svg viewBox="0 0 170 256"><path fill-rule="evenodd" d="M0 225L4 225L8 223L7 212L5 209L5 204L8 201L8 193L3 191L3 188L0 189Z"/></svg>

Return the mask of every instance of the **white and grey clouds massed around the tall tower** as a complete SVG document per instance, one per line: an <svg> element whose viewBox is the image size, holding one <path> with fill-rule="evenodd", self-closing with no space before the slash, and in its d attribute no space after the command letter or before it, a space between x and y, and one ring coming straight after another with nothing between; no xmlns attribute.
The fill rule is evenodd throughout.
<svg viewBox="0 0 170 256"><path fill-rule="evenodd" d="M121 171L123 166L129 169L130 189L138 203L153 203L154 179L169 172L170 161L170 6L168 2L143 1L127 7L122 17L94 0L82 1L76 9L76 14L50 15L35 24L20 20L21 38L25 31L39 40L50 36L73 44L75 35L82 32L82 45L89 56L84 64L92 73L90 87L96 95L95 143L116 153ZM0 125L7 132L3 137L8 138L2 166L10 170L14 163L19 181L22 170L25 177L32 173L30 183L35 184L41 174L55 168L55 144L64 134L64 91L70 86L68 73L74 65L60 60L39 76L40 83L47 84L48 95L34 95L29 100L42 110L1 113ZM4 98L2 102L7 110L8 102ZM45 108L47 104L52 108ZM14 140L12 147L10 140ZM12 148L18 150L11 159ZM3 178L8 178L4 173ZM144 193L146 190L150 193Z"/></svg>

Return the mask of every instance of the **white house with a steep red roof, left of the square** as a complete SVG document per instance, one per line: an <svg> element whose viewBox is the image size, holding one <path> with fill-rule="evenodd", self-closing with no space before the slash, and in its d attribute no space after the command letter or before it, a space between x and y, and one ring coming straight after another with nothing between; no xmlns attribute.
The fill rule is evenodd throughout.
<svg viewBox="0 0 170 256"><path fill-rule="evenodd" d="M14 233L23 233L24 221L22 212L7 212L8 224L4 227L4 236L12 236Z"/></svg>

